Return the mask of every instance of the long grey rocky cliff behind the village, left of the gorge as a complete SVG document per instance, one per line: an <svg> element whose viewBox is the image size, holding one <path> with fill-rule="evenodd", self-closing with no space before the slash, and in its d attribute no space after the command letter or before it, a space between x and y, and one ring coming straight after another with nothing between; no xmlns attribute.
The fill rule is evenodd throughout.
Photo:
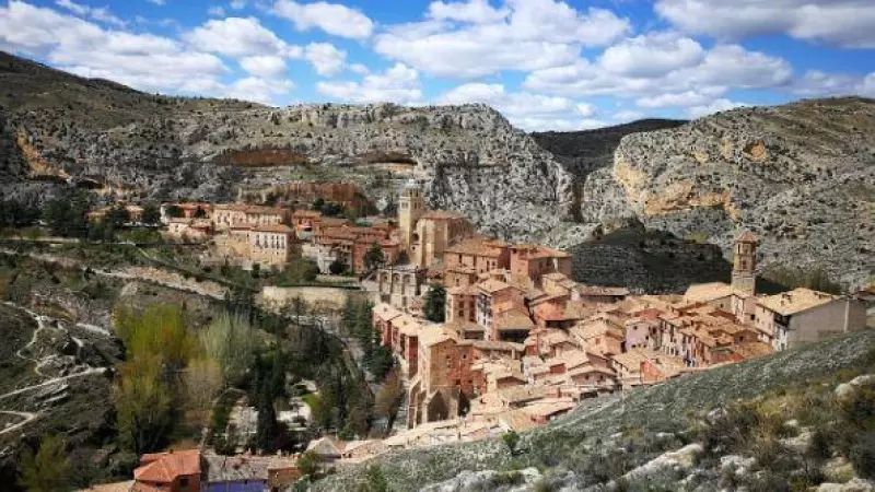
<svg viewBox="0 0 875 492"><path fill-rule="evenodd" d="M230 199L291 179L419 179L431 207L534 238L572 210L552 154L482 105L302 105L154 96L0 57L0 168L21 181L74 183L140 198ZM375 184L376 183L376 184ZM11 186L10 186L11 185ZM382 198L382 197L373 197Z"/></svg>

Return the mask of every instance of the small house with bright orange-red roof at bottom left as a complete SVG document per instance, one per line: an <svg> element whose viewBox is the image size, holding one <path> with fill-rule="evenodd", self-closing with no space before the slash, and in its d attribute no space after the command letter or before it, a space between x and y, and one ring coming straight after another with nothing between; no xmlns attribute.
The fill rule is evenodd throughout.
<svg viewBox="0 0 875 492"><path fill-rule="evenodd" d="M153 453L133 470L132 492L200 492L200 450Z"/></svg>

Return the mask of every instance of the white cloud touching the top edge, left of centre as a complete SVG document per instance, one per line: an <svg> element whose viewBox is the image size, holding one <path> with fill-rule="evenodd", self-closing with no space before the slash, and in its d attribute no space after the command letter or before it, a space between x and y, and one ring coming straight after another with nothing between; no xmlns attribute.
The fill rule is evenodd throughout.
<svg viewBox="0 0 875 492"><path fill-rule="evenodd" d="M335 36L366 39L374 30L374 23L366 15L339 3L277 0L272 11L292 21L299 31L316 27Z"/></svg>

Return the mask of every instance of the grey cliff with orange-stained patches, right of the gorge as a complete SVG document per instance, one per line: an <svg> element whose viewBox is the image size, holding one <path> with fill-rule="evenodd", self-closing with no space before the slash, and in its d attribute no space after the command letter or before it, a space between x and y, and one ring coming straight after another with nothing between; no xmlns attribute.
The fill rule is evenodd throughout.
<svg viewBox="0 0 875 492"><path fill-rule="evenodd" d="M583 186L584 222L637 218L728 254L737 231L763 267L825 268L848 286L875 271L875 101L744 108L625 137Z"/></svg>

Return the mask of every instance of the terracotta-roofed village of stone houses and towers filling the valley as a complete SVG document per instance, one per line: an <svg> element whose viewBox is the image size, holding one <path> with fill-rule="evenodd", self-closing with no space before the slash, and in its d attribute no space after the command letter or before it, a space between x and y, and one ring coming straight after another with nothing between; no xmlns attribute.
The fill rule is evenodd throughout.
<svg viewBox="0 0 875 492"><path fill-rule="evenodd" d="M294 210L164 203L161 222L170 241L208 244L205 261L266 271L305 258L368 293L372 328L402 379L399 423L386 436L311 441L307 452L322 466L523 432L588 399L866 327L865 307L850 296L758 294L758 244L749 232L737 235L730 283L641 294L576 282L567 251L486 236L459 213L429 210L416 181L399 190L395 214L360 218L331 210L351 209L354 194L319 186ZM128 209L136 221L141 209ZM298 459L198 449L149 455L125 490L240 482L252 487L233 490L280 490L302 475ZM213 473L231 478L200 484Z"/></svg>

